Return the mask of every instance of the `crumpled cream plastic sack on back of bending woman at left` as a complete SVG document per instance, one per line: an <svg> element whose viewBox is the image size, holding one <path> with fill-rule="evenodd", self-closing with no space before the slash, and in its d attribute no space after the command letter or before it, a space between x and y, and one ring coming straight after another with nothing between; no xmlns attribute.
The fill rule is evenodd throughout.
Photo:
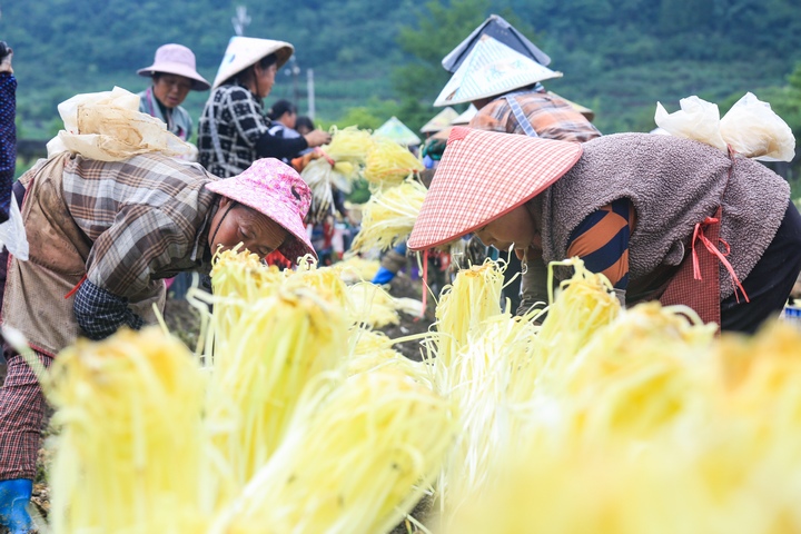
<svg viewBox="0 0 801 534"><path fill-rule="evenodd" d="M139 97L119 87L77 95L58 106L65 129L48 142L48 157L68 150L98 161L146 152L190 157L191 147L160 119L139 111Z"/></svg>

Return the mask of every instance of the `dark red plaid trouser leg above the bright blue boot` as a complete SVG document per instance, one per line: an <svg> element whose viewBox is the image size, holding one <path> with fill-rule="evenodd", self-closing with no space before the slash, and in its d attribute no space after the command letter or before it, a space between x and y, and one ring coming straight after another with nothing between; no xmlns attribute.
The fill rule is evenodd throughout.
<svg viewBox="0 0 801 534"><path fill-rule="evenodd" d="M47 402L24 358L6 354L8 374L0 388L0 481L33 479ZM50 356L36 355L50 367Z"/></svg>

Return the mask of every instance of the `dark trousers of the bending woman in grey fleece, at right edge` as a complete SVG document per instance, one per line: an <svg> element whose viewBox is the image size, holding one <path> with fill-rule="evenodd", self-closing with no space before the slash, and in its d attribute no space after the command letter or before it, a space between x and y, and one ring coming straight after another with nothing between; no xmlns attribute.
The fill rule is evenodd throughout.
<svg viewBox="0 0 801 534"><path fill-rule="evenodd" d="M732 295L721 301L721 329L753 334L768 318L781 313L801 271L801 215L792 202L775 237L742 280L749 303Z"/></svg>

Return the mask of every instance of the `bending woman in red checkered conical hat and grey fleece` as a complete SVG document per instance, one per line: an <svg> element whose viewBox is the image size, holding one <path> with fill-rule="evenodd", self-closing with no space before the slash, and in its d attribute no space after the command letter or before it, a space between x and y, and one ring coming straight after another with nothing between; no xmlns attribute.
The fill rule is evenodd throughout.
<svg viewBox="0 0 801 534"><path fill-rule="evenodd" d="M454 128L408 246L471 231L527 265L518 312L547 300L550 261L577 256L624 304L683 304L724 330L754 332L801 271L787 181L671 136L575 144Z"/></svg>

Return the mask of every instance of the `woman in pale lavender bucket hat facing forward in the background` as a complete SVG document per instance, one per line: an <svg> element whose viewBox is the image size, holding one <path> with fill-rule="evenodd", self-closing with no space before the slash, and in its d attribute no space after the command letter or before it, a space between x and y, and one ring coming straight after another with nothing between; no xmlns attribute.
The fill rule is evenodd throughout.
<svg viewBox="0 0 801 534"><path fill-rule="evenodd" d="M137 71L152 78L152 86L139 93L139 111L161 119L167 129L187 141L192 135L192 120L181 103L189 91L207 91L208 81L195 69L195 55L182 44L164 44L156 50L150 67Z"/></svg>

